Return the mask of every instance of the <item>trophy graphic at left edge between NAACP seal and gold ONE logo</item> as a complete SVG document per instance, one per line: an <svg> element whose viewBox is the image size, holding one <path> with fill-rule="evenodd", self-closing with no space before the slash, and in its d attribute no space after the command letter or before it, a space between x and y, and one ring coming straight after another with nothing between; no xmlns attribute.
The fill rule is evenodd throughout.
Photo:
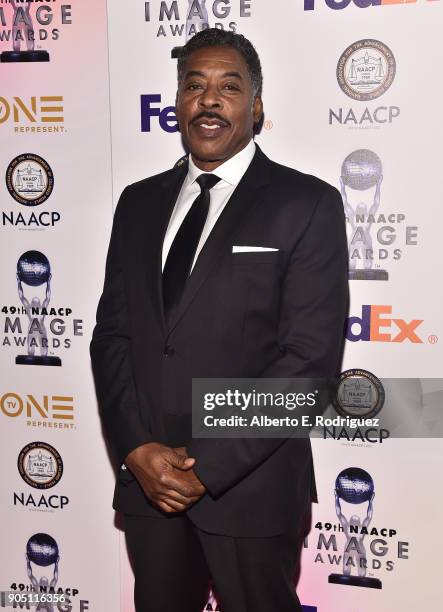
<svg viewBox="0 0 443 612"><path fill-rule="evenodd" d="M61 366L59 357L48 355L48 334L45 327L45 316L51 299L51 266L49 260L40 251L27 251L17 262L18 295L29 319L28 354L18 355L15 363L20 365ZM43 301L34 296L30 300L25 297L23 284L36 288L46 284ZM36 349L40 355L36 355Z"/></svg>

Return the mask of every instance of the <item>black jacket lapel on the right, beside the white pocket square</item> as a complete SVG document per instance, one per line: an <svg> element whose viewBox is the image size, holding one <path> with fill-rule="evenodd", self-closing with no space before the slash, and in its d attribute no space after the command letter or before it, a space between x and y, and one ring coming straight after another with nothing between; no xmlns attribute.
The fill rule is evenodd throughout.
<svg viewBox="0 0 443 612"><path fill-rule="evenodd" d="M257 146L251 164L243 175L240 183L235 188L234 193L229 198L229 201L220 214L220 217L217 219L214 228L199 253L192 274L186 284L181 302L171 316L169 331L172 331L180 321L197 291L206 280L211 268L219 261L219 253L226 242L230 239L231 235L239 229L240 224L246 220L249 210L260 200L259 190L269 182L269 165L269 159Z"/></svg>

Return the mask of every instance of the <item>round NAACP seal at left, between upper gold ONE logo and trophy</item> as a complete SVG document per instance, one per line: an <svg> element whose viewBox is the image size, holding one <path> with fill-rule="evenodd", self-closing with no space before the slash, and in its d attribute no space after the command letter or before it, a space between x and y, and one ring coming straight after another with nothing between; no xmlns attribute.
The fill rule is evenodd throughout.
<svg viewBox="0 0 443 612"><path fill-rule="evenodd" d="M38 206L51 195L54 175L43 157L35 153L22 153L12 160L6 170L6 187L20 204Z"/></svg>

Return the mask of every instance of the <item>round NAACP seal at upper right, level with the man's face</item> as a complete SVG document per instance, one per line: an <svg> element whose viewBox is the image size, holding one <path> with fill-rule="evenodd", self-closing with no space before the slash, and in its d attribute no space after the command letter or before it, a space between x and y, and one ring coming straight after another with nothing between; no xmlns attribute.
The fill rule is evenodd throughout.
<svg viewBox="0 0 443 612"><path fill-rule="evenodd" d="M354 100L373 100L383 95L395 77L395 57L384 43L373 38L352 43L337 64L337 81Z"/></svg>

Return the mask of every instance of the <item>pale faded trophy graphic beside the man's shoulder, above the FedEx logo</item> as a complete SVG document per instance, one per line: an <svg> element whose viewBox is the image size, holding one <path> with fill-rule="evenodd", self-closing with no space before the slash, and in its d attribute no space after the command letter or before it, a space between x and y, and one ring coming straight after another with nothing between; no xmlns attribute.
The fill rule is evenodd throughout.
<svg viewBox="0 0 443 612"><path fill-rule="evenodd" d="M368 149L350 153L341 167L340 190L348 222L351 226L349 238L349 279L388 280L386 270L374 268L371 229L380 206L380 187L383 180L379 156ZM363 192L375 187L372 202L363 200ZM351 202L352 191L353 200ZM355 201L356 200L356 201ZM362 267L357 267L361 262Z"/></svg>

